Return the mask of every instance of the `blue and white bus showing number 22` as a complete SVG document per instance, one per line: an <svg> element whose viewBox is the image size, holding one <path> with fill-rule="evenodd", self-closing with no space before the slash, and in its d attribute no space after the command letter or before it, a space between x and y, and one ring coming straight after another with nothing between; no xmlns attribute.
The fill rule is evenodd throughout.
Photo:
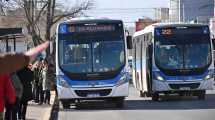
<svg viewBox="0 0 215 120"><path fill-rule="evenodd" d="M157 23L133 36L133 83L140 96L179 94L205 99L214 61L207 25Z"/></svg>

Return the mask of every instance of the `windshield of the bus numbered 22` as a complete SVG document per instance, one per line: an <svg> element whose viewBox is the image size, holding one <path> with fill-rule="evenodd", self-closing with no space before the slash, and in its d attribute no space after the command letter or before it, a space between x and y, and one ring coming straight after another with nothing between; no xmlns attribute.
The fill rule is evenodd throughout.
<svg viewBox="0 0 215 120"><path fill-rule="evenodd" d="M196 69L211 63L210 37L184 34L157 36L155 40L155 61L162 69Z"/></svg>

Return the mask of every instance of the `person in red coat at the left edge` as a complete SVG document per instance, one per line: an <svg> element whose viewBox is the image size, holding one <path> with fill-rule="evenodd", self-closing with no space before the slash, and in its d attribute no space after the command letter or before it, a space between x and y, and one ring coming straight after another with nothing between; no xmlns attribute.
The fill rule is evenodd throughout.
<svg viewBox="0 0 215 120"><path fill-rule="evenodd" d="M9 75L0 75L0 120L3 120L5 104L14 104L16 101L15 90Z"/></svg>

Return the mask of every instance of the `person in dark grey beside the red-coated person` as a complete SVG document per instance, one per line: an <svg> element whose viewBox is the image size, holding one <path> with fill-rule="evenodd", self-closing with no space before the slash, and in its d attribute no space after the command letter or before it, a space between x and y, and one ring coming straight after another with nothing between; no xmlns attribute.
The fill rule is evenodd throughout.
<svg viewBox="0 0 215 120"><path fill-rule="evenodd" d="M22 83L16 73L11 74L11 80L16 93L16 102L12 105L6 105L5 120L17 120L17 113L23 93Z"/></svg>

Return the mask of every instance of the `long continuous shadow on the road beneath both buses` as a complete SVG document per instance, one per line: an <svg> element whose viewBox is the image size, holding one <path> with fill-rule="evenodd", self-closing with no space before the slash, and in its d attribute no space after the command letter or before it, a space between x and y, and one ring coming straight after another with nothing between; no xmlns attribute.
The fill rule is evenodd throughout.
<svg viewBox="0 0 215 120"><path fill-rule="evenodd" d="M195 109L215 109L215 94L208 94L206 100L198 100L194 97L177 98L172 96L163 98L159 102L152 100L126 100L125 107L116 108L113 103L106 102L84 102L71 109L62 109L63 112L83 112L98 110L195 110Z"/></svg>

